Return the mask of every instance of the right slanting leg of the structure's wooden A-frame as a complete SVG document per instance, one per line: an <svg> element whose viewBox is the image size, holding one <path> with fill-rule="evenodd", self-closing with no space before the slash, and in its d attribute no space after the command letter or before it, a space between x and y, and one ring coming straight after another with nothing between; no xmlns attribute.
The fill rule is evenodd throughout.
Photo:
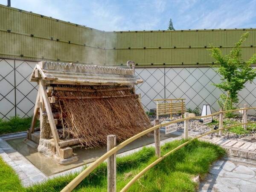
<svg viewBox="0 0 256 192"><path fill-rule="evenodd" d="M56 153L59 156L59 147L58 147L58 143L60 142L60 138L58 136L58 131L55 125L55 121L54 121L54 117L52 114L52 109L51 109L51 105L47 96L47 90L44 86L44 82L42 79L39 79L39 86L40 86L40 94L42 95L43 101L44 101L44 105L45 105L45 109L47 112L47 116L48 116L48 121L50 124L50 128L52 131L52 136L54 139L54 143L55 143L55 148L56 148Z"/></svg>

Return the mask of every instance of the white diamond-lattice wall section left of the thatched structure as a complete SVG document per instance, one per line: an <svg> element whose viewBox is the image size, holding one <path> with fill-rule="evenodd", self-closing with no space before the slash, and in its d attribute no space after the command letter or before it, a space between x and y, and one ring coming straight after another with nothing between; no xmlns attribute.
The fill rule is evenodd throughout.
<svg viewBox="0 0 256 192"><path fill-rule="evenodd" d="M35 62L0 59L0 119L32 114L37 84L29 81Z"/></svg>

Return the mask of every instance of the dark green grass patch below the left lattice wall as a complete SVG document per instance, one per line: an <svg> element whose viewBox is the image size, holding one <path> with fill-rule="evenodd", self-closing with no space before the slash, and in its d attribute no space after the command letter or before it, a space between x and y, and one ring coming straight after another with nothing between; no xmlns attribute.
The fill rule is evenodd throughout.
<svg viewBox="0 0 256 192"><path fill-rule="evenodd" d="M19 116L12 116L10 120L0 119L0 135L28 130L31 119L31 117L20 118ZM39 126L39 122L35 126Z"/></svg>

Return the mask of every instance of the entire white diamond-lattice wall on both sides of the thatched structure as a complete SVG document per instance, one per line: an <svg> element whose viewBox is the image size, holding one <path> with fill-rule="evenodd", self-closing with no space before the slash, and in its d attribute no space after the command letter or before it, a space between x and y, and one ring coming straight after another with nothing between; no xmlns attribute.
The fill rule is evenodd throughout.
<svg viewBox="0 0 256 192"><path fill-rule="evenodd" d="M31 116L37 93L37 84L29 82L36 62L0 59L0 118ZM14 70L15 68L15 70ZM186 108L199 108L208 103L218 111L217 100L222 93L212 83L220 76L211 67L191 68L138 68L136 74L144 80L138 84L146 111L156 108L153 99L185 98ZM16 92L16 94L15 94ZM15 97L16 95L16 97ZM244 103L256 106L256 80L239 92L239 107ZM16 106L16 107L15 107ZM256 113L255 110L249 113Z"/></svg>

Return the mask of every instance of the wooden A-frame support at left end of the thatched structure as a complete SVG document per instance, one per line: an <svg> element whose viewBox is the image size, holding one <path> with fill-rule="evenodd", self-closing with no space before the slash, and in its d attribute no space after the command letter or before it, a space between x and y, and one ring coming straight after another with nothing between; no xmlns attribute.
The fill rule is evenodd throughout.
<svg viewBox="0 0 256 192"><path fill-rule="evenodd" d="M36 101L35 101L34 113L32 116L32 122L31 122L31 126L29 128L29 133L28 133L27 137L28 137L28 139L31 139L31 134L34 133L35 122L37 119L36 117L38 115L38 110L40 108L40 128L42 127L43 113L46 112L47 117L48 117L48 122L49 122L49 125L51 128L53 140L55 143L56 154L57 154L57 156L59 156L58 143L60 142L60 138L58 136L57 128L56 128L54 117L52 114L51 105L50 105L48 95L47 95L47 90L44 85L44 81L41 78L38 79L38 85L39 85L38 86L38 94L37 94Z"/></svg>

